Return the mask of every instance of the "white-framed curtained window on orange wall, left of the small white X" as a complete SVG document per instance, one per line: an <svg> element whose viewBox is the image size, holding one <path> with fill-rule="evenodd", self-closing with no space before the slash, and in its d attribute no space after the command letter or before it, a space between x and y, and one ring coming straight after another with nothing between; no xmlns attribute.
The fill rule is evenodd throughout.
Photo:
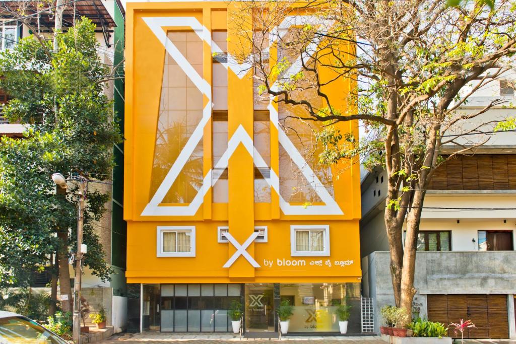
<svg viewBox="0 0 516 344"><path fill-rule="evenodd" d="M195 226L158 226L156 256L195 257Z"/></svg>

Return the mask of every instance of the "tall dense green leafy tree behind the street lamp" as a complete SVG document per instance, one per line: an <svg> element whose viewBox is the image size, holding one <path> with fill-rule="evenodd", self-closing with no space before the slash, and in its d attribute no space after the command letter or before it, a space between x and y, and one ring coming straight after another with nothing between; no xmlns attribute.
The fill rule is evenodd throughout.
<svg viewBox="0 0 516 344"><path fill-rule="evenodd" d="M69 183L67 194L55 194L51 175L104 181L111 175L112 145L122 140L103 93L112 70L97 54L94 30L83 18L56 35L57 52L51 40L31 36L0 56L0 87L13 96L5 116L27 125L22 139L0 142L0 285L27 285L31 273L57 254L61 294L69 295L65 311L71 310L68 258L75 251L77 186ZM84 219L84 263L103 280L111 269L94 227L108 200L106 192L88 190Z"/></svg>

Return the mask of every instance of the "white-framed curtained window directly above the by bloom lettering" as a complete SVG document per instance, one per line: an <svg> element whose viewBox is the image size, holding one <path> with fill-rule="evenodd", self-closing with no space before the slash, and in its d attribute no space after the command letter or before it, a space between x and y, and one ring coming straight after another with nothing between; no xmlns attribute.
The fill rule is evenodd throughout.
<svg viewBox="0 0 516 344"><path fill-rule="evenodd" d="M329 256L330 226L292 225L291 256Z"/></svg>

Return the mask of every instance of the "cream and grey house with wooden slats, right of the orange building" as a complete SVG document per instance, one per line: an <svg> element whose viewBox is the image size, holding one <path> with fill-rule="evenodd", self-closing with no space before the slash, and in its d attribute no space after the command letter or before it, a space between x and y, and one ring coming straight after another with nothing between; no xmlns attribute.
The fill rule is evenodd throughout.
<svg viewBox="0 0 516 344"><path fill-rule="evenodd" d="M501 96L506 102L461 130L516 116L510 87L515 74L509 73L507 79L494 80L469 98L460 112L474 113ZM468 135L459 143L489 141L469 155L443 163L428 187L417 247L413 312L446 324L471 319L477 329L465 333L470 338L516 338L516 133L493 132L493 124L480 130L486 134ZM456 150L443 146L441 152L448 155ZM377 329L378 310L394 304L383 221L386 178L377 169L362 180L363 289L375 300Z"/></svg>

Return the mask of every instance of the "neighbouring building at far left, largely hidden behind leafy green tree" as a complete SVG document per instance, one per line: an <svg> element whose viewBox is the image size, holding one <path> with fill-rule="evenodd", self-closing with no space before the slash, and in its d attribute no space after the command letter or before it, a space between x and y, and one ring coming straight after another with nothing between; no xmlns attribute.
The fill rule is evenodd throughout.
<svg viewBox="0 0 516 344"><path fill-rule="evenodd" d="M11 8L19 6L22 2L6 2ZM30 2L26 2L30 3ZM75 12L74 12L75 8ZM30 10L27 9L29 13ZM34 10L35 11L35 10ZM79 0L73 5L66 7L63 12L63 29L73 25L74 15L76 18L88 17L97 25L95 30L96 38L100 43L99 56L103 63L116 66L122 62L119 74L123 77L123 54L124 54L124 31L125 31L125 10L119 0ZM8 24L2 24L8 23ZM1 30L4 33L1 40L1 48L12 48L22 37L31 34L29 28L20 22L13 22L6 14L0 20ZM39 21L34 17L33 26L39 25L43 35L51 35L54 27L54 17L49 14L41 14ZM11 39L12 38L12 39ZM104 91L109 99L114 101L115 118L123 130L124 115L124 80L116 79L108 82ZM11 95L0 90L0 103L5 104ZM0 136L22 138L25 126L19 123L9 123L2 117L0 112ZM102 189L112 194L112 202L106 205L107 211L104 217L96 223L99 235L106 252L106 261L115 270L109 282L102 282L98 277L92 275L88 268L84 269L82 280L83 297L90 304L91 312L100 306L106 308L108 325L113 325L115 331L125 328L127 289L125 285L125 245L126 227L123 221L123 143L114 146L116 166L112 175L112 186L105 184L90 184L90 188ZM70 276L73 279L74 269L70 267ZM33 287L45 287L50 283L50 271L45 270L35 275ZM73 283L72 283L73 286ZM88 317L86 317L89 320Z"/></svg>

